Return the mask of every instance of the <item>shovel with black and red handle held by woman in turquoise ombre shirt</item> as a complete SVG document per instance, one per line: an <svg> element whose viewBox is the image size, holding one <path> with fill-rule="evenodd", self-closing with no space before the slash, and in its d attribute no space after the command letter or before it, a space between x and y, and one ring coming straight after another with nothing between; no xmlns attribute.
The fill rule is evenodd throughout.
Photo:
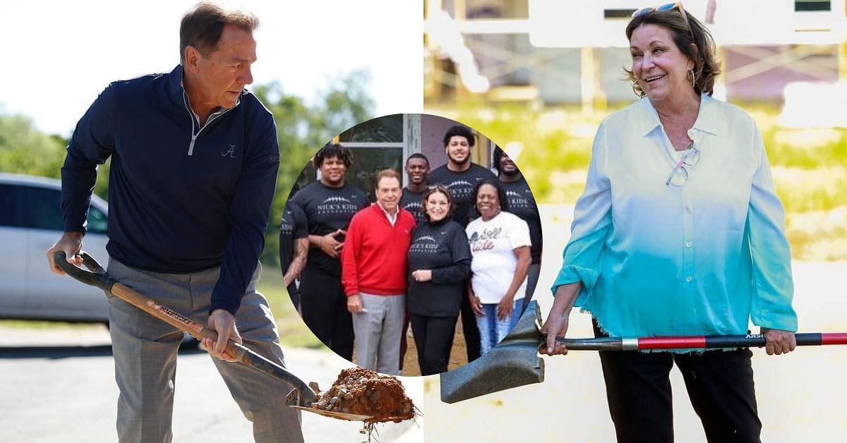
<svg viewBox="0 0 847 443"><path fill-rule="evenodd" d="M462 368L441 374L441 401L455 403L499 390L544 381L547 337L541 333L538 302L529 302L523 317L491 351ZM794 334L797 346L847 345L847 333ZM687 337L556 337L571 351L642 351L647 349L713 349L765 346L765 335L701 335Z"/></svg>

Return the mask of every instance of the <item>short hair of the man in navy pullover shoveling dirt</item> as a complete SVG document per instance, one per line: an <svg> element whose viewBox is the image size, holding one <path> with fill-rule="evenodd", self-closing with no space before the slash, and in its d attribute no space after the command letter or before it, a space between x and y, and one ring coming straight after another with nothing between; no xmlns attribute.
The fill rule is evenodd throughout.
<svg viewBox="0 0 847 443"><path fill-rule="evenodd" d="M185 62L185 48L196 47L208 56L218 46L225 25L234 25L252 32L259 19L243 9L228 9L219 3L201 2L182 16L180 24L180 62Z"/></svg>

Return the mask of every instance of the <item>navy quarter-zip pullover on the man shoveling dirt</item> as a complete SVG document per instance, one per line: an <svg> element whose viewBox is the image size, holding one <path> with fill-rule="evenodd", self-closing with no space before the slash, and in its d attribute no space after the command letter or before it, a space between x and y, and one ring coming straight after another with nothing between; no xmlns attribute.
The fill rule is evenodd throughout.
<svg viewBox="0 0 847 443"><path fill-rule="evenodd" d="M182 67L110 84L76 125L62 167L65 231L85 231L97 165L112 157L109 255L133 268L220 266L211 310L235 315L264 246L280 151L274 117L242 91L201 126Z"/></svg>

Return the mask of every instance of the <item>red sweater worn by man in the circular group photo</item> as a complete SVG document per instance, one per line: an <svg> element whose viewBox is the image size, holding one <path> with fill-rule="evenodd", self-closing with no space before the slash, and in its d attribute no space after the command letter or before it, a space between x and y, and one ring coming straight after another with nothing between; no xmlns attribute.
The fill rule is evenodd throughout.
<svg viewBox="0 0 847 443"><path fill-rule="evenodd" d="M406 260L415 219L405 209L397 211L394 226L376 203L350 221L341 249L341 284L347 296L406 293Z"/></svg>

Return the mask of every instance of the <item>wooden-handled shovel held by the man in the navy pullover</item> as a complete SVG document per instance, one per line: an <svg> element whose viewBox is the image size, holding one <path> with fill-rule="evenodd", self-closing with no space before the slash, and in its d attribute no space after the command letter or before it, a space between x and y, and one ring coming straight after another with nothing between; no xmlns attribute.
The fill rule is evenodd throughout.
<svg viewBox="0 0 847 443"><path fill-rule="evenodd" d="M153 317L174 326L174 328L191 334L199 341L202 341L204 338L211 338L215 341L218 340L218 333L214 330L208 329L202 324L191 320L191 318L185 317L185 315L177 313L169 307L160 305L146 296L142 296L130 287L121 284L119 281L114 280L109 274L106 274L106 270L100 266L100 263L97 263L97 260L88 255L86 252L80 252L80 257L82 257L82 264L89 269L89 271L68 263L65 253L62 251L56 252L53 255L53 260L58 267L65 272L65 274L70 275L76 280L80 280L86 285L96 286L103 291L107 291L113 296L117 296L121 300L130 303L132 306L138 307L142 311L149 313ZM307 385L306 382L299 379L296 375L291 374L279 364L271 362L267 358L251 351L246 346L235 343L235 341L230 340L227 342L226 352L231 356L235 356L239 362L246 364L251 368L256 368L275 379L279 379L286 384L291 385L294 389L292 389L288 396L285 397L285 404L290 407L344 420L360 421L369 418L364 415L336 413L334 411L314 409L311 406L314 401L318 401L319 392L317 384L312 383Z"/></svg>

